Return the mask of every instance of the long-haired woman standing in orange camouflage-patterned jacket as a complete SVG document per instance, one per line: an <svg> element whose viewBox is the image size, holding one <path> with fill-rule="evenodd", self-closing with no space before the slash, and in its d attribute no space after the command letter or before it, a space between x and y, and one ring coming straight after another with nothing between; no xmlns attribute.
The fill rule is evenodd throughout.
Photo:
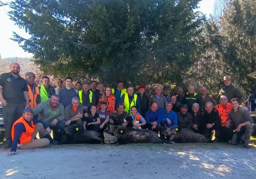
<svg viewBox="0 0 256 179"><path fill-rule="evenodd" d="M108 107L106 111L109 111L109 113L113 113L115 111L115 96L111 92L110 87L106 87L104 90L104 93L102 96L100 96L100 99L98 101L97 109L100 109L100 102L101 101L107 101Z"/></svg>

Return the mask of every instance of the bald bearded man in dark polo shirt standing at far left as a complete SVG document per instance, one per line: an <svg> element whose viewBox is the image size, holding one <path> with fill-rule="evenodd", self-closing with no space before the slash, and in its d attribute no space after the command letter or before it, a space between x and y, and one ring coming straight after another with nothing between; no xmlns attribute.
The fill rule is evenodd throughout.
<svg viewBox="0 0 256 179"><path fill-rule="evenodd" d="M19 76L20 65L11 63L11 72L0 76L0 101L4 111L6 142L4 148L11 147L11 127L22 116L25 107L29 107L28 86ZM26 101L26 105L25 102Z"/></svg>

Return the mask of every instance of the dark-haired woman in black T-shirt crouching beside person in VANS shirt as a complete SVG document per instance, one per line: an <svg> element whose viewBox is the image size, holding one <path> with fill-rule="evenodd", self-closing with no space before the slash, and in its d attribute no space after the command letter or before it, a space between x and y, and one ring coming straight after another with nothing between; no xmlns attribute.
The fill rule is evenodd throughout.
<svg viewBox="0 0 256 179"><path fill-rule="evenodd" d="M89 117L85 117L83 120L83 129L100 132L100 116L96 113L96 106L91 106L91 112Z"/></svg>

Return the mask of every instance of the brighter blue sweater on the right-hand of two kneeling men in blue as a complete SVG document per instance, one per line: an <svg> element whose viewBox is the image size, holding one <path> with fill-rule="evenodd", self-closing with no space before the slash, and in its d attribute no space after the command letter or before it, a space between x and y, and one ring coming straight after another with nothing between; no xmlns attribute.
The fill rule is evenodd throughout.
<svg viewBox="0 0 256 179"><path fill-rule="evenodd" d="M167 118L171 120L171 124L167 124ZM161 109L158 113L157 123L160 123L161 121L166 122L167 127L171 127L173 125L178 126L178 117L173 110L170 113L166 113L165 109Z"/></svg>

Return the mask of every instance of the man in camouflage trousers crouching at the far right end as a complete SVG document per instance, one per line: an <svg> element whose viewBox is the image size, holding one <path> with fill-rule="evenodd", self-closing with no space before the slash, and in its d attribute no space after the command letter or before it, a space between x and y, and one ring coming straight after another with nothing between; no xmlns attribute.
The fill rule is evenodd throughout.
<svg viewBox="0 0 256 179"><path fill-rule="evenodd" d="M250 148L248 142L253 132L252 117L247 110L243 110L239 107L237 98L232 99L231 104L232 110L229 112L228 120L226 122L227 128L232 126L232 123L234 123L234 126L236 127L231 144L237 146L242 140L242 135L244 135L243 146L248 149Z"/></svg>

